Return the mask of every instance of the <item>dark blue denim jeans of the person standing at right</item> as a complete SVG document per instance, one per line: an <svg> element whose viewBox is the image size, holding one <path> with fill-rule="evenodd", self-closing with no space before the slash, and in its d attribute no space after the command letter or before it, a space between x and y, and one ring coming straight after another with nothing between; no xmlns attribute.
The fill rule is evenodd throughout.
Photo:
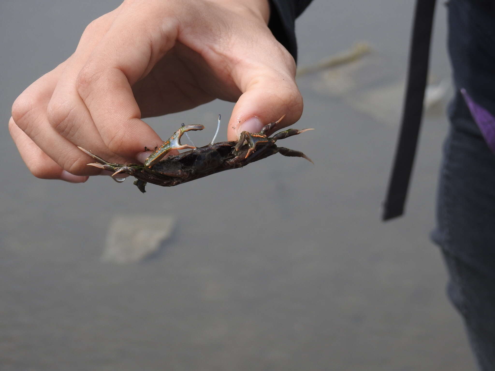
<svg viewBox="0 0 495 371"><path fill-rule="evenodd" d="M451 0L449 54L457 93L441 169L437 229L448 296L462 315L480 370L495 370L495 154L459 89L495 113L494 1Z"/></svg>

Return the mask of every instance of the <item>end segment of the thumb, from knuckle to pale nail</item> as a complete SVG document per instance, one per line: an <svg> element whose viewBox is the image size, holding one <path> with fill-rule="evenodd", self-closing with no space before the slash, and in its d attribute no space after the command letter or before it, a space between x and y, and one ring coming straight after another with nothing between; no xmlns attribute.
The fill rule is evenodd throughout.
<svg viewBox="0 0 495 371"><path fill-rule="evenodd" d="M294 78L258 76L234 106L227 140L239 139L243 131L258 133L263 126L283 115L286 116L272 132L290 126L301 117L302 106L302 96Z"/></svg>

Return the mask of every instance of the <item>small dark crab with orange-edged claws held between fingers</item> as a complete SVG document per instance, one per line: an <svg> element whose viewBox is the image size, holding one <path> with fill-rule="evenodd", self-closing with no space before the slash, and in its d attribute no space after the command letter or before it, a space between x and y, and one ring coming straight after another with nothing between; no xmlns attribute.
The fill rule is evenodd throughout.
<svg viewBox="0 0 495 371"><path fill-rule="evenodd" d="M285 116L285 115L284 115ZM84 153L93 157L97 163L88 165L113 172L112 178L116 182L123 182L119 174L129 174L137 180L134 182L139 190L146 192L147 183L165 187L191 182L221 171L236 169L263 158L280 153L288 157L302 157L311 161L304 153L279 147L275 144L277 140L292 137L313 129L289 129L268 137L265 133L272 131L284 118L265 125L259 133L242 132L237 141L223 141L214 143L214 139L208 145L196 147L189 144L181 144L180 139L188 131L203 130L203 125L184 125L177 130L170 139L166 140L160 147L156 147L148 156L143 165L140 164L114 164L105 161L94 153L79 147ZM220 125L220 115L218 115ZM218 133L218 128L217 128ZM187 135L187 134L186 134ZM165 155L172 149L191 149L177 155Z"/></svg>

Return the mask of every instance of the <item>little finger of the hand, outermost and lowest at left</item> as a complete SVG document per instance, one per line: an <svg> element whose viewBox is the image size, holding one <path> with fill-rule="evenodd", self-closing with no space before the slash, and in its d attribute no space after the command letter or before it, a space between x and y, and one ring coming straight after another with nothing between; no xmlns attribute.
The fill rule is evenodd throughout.
<svg viewBox="0 0 495 371"><path fill-rule="evenodd" d="M70 174L58 166L35 142L19 129L12 117L8 122L8 130L19 150L22 160L35 177L42 179L61 179L70 183L84 183L88 180L88 177Z"/></svg>

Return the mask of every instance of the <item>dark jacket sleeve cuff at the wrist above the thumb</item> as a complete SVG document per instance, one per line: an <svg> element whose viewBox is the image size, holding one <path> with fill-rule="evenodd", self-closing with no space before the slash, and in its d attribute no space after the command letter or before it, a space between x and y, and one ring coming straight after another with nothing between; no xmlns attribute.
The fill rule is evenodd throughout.
<svg viewBox="0 0 495 371"><path fill-rule="evenodd" d="M296 18L306 9L311 0L270 0L268 27L280 44L286 47L297 62L295 32Z"/></svg>

